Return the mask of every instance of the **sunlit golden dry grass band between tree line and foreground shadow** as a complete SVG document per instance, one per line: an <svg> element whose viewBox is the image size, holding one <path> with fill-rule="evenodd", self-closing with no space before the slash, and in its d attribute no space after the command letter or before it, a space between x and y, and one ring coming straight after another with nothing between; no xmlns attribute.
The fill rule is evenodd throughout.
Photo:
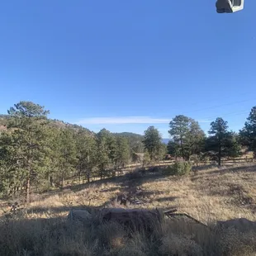
<svg viewBox="0 0 256 256"><path fill-rule="evenodd" d="M31 202L27 217L66 216L73 207L118 206L120 193L138 190L135 197L142 204L130 207L176 208L203 222L241 217L256 220L255 184L254 164L206 168L183 178L158 173L131 181L119 177L40 196L45 198Z"/></svg>

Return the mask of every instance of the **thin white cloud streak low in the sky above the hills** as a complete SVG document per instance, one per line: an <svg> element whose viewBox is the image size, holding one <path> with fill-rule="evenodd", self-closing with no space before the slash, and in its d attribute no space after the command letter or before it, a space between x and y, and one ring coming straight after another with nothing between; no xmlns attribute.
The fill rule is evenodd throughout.
<svg viewBox="0 0 256 256"><path fill-rule="evenodd" d="M92 117L78 121L78 125L168 124L171 118L149 116ZM209 122L209 121L199 121Z"/></svg>

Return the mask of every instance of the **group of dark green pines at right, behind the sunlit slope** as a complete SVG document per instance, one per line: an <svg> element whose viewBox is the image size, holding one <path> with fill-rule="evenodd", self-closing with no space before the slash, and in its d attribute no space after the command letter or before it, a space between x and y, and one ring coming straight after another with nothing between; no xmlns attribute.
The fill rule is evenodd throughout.
<svg viewBox="0 0 256 256"><path fill-rule="evenodd" d="M256 107L251 109L239 133L229 130L228 122L221 117L211 122L208 136L197 121L187 116L175 116L169 126L172 140L168 143L168 153L175 157L196 161L208 158L220 165L225 157L239 157L243 147L256 157Z"/></svg>

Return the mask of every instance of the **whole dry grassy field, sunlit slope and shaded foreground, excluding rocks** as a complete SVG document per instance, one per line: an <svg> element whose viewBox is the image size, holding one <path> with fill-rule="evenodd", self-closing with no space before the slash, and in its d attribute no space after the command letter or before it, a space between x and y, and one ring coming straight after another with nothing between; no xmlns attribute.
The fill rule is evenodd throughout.
<svg viewBox="0 0 256 256"><path fill-rule="evenodd" d="M256 221L256 166L200 166L187 177L167 177L161 169L138 171L63 191L32 195L32 202L0 221L0 255L256 255L256 230L216 230L216 220ZM119 195L130 195L121 206ZM177 209L212 227L164 220L150 235L103 224L103 207ZM70 209L85 208L91 223L69 223Z"/></svg>

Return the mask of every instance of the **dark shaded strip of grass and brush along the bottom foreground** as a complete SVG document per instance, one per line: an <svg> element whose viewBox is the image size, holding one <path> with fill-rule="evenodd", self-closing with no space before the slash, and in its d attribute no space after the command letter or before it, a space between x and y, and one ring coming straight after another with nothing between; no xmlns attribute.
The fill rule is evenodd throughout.
<svg viewBox="0 0 256 256"><path fill-rule="evenodd" d="M63 207L54 210L60 212ZM89 209L88 209L89 211ZM91 212L94 208L91 207ZM0 221L0 255L254 255L256 233L211 229L178 217L147 233L114 221L67 218ZM230 244L232 244L230 246Z"/></svg>

